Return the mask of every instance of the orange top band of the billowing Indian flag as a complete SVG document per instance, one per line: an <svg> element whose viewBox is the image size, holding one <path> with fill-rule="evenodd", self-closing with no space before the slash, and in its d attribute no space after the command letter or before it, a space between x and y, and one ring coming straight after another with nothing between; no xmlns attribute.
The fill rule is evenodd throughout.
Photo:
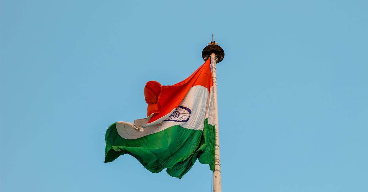
<svg viewBox="0 0 368 192"><path fill-rule="evenodd" d="M161 86L156 81L147 82L144 88L146 103L148 103L147 116L155 113L148 123L158 120L176 108L192 86L201 85L209 91L213 85L210 65L208 59L190 77L174 85Z"/></svg>

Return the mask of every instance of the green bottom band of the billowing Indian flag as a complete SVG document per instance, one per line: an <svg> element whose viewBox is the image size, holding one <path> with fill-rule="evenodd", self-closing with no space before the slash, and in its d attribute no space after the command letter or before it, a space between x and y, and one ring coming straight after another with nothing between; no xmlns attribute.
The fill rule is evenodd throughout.
<svg viewBox="0 0 368 192"><path fill-rule="evenodd" d="M105 163L123 154L130 154L152 173L164 168L172 177L181 178L193 166L197 158L215 169L215 126L205 120L204 129L186 129L175 125L160 132L138 139L124 139L116 123L106 131Z"/></svg>

